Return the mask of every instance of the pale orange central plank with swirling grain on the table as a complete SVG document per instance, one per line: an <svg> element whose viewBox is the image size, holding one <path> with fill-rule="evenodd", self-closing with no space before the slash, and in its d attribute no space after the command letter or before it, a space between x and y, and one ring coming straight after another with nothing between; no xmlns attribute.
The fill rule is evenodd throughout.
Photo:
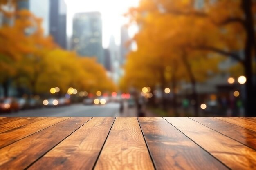
<svg viewBox="0 0 256 170"><path fill-rule="evenodd" d="M94 168L103 169L154 170L136 117L116 118Z"/></svg>

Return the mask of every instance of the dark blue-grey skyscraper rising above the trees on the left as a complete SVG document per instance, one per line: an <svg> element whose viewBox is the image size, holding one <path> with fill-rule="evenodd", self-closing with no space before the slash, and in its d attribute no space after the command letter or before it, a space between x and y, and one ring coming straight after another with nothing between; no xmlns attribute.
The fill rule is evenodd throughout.
<svg viewBox="0 0 256 170"><path fill-rule="evenodd" d="M50 0L50 34L62 48L67 48L67 5L64 0Z"/></svg>

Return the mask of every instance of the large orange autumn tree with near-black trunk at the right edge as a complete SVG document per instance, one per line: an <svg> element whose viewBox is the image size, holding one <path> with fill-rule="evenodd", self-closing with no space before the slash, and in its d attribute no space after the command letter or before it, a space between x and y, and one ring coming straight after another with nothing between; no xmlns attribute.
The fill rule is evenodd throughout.
<svg viewBox="0 0 256 170"><path fill-rule="evenodd" d="M147 25L147 18L151 17L155 22L165 18L166 25L172 26L166 26L162 34L166 39L172 40L168 43L170 47L174 45L175 48L182 49L183 55L180 57L183 56L183 60L184 56L190 60L191 56L188 54L200 51L205 56L215 53L241 63L247 77L246 108L249 114L255 112L252 93L255 5L254 0L141 0L139 7L130 9L129 16L138 23L141 30ZM239 55L239 51L243 55ZM193 79L191 82L193 83Z"/></svg>

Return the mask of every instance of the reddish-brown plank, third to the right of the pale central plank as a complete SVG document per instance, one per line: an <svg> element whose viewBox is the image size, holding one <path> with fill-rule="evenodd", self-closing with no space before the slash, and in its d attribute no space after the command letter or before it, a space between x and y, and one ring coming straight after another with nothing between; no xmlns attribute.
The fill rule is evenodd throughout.
<svg viewBox="0 0 256 170"><path fill-rule="evenodd" d="M240 143L256 150L256 132L229 124L213 117L190 117L191 119L216 130Z"/></svg>

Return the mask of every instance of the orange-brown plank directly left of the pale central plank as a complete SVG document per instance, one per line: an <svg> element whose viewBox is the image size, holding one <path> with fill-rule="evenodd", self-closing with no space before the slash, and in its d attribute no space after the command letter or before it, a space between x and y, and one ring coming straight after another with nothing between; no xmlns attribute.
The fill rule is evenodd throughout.
<svg viewBox="0 0 256 170"><path fill-rule="evenodd" d="M114 120L114 117L92 118L29 167L29 170L92 169Z"/></svg>

